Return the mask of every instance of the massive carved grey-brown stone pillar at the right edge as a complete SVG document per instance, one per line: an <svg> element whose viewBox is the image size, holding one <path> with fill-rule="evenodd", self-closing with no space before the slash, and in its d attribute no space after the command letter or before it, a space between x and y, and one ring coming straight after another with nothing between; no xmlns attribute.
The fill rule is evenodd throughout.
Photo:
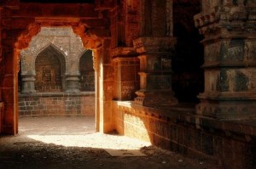
<svg viewBox="0 0 256 169"><path fill-rule="evenodd" d="M256 117L256 3L202 1L195 25L205 39L205 91L198 115L217 119Z"/></svg>

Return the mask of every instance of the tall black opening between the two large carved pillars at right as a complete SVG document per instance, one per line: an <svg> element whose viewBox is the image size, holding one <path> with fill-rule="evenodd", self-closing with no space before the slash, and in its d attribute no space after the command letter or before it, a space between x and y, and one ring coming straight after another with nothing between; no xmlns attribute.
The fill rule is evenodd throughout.
<svg viewBox="0 0 256 169"><path fill-rule="evenodd" d="M203 36L195 28L194 15L201 11L197 1L173 2L173 36L177 37L176 55L172 58L172 90L179 103L198 104L204 91Z"/></svg>

